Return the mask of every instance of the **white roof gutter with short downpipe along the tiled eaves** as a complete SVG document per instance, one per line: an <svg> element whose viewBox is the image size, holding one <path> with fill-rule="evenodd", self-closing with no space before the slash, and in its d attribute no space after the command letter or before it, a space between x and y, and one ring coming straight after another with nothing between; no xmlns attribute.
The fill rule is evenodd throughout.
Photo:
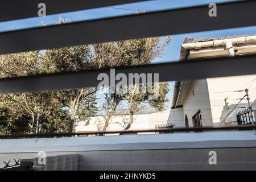
<svg viewBox="0 0 256 182"><path fill-rule="evenodd" d="M205 47L217 47L225 46L229 51L229 56L235 55L233 45L256 42L256 36L242 36L239 38L221 39L221 40L210 40L207 42L196 42L196 43L184 43L181 45L184 49L201 49Z"/></svg>

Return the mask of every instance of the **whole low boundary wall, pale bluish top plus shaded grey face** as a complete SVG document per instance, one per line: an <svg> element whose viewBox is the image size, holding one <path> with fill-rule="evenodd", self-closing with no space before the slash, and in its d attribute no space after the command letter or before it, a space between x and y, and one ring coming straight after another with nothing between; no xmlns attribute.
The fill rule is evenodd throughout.
<svg viewBox="0 0 256 182"><path fill-rule="evenodd" d="M77 154L79 170L256 170L253 131L0 140L0 167L42 150L47 157Z"/></svg>

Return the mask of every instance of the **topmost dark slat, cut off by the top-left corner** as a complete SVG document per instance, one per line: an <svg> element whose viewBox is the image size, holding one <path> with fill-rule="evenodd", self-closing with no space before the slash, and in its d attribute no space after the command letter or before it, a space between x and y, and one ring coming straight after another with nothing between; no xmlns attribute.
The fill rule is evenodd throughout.
<svg viewBox="0 0 256 182"><path fill-rule="evenodd" d="M39 3L46 4L46 15L94 9L148 0L2 0L0 22L38 16Z"/></svg>

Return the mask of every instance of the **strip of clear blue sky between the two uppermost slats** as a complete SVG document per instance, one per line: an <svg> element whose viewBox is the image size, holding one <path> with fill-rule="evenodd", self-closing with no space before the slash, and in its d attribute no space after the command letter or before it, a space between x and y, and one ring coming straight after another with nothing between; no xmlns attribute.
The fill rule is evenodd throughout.
<svg viewBox="0 0 256 182"><path fill-rule="evenodd" d="M64 14L56 14L56 15L48 15L45 17L36 17L22 20L14 20L9 22L0 23L0 31L9 31L16 30L20 28L31 28L36 27L41 22L46 23L47 25L54 24L58 21L59 15L63 18L71 19L72 22L80 21L80 20L89 20L89 19L98 19L105 18L109 16L117 16L117 15L126 15L133 14L132 10L144 10L146 12L149 11L157 11L157 10L166 10L166 9L176 9L179 7L187 7L187 6L196 6L196 5L207 5L210 2L229 2L234 0L152 0L146 2L139 3L130 3L126 5L112 6L112 7L103 7L98 9L91 10L82 10L75 11L71 13ZM47 7L47 5L46 5ZM123 9L131 9L131 10L122 10L122 9L113 9L113 7L123 8ZM47 12L46 12L47 13Z"/></svg>

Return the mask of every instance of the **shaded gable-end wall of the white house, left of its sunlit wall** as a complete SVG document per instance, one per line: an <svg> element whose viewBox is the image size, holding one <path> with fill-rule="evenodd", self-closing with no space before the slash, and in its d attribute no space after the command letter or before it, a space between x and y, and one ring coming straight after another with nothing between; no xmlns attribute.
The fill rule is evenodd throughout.
<svg viewBox="0 0 256 182"><path fill-rule="evenodd" d="M194 81L183 102L183 121L187 115L189 127L193 127L192 117L200 110L203 127L212 126L210 109L207 80Z"/></svg>

